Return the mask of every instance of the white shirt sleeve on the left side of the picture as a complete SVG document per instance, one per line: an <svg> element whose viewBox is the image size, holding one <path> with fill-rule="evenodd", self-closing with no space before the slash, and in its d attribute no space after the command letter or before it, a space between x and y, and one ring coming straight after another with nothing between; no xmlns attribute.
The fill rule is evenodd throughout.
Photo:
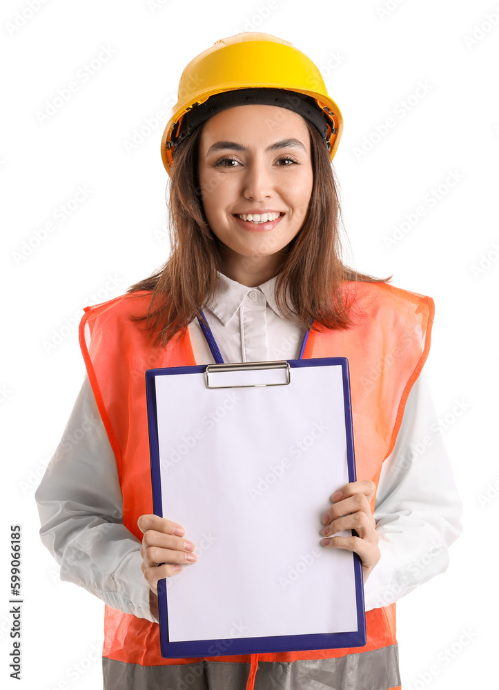
<svg viewBox="0 0 499 690"><path fill-rule="evenodd" d="M123 524L123 496L88 380L75 402L35 499L41 541L74 582L108 606L158 622L141 571L141 542Z"/></svg>

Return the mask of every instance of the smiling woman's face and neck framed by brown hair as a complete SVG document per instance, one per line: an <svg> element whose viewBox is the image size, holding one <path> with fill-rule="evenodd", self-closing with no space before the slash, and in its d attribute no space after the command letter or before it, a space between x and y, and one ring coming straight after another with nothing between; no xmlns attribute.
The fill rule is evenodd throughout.
<svg viewBox="0 0 499 690"><path fill-rule="evenodd" d="M222 110L204 123L198 170L206 219L231 273L260 270L270 278L309 208L313 170L305 120L277 106Z"/></svg>

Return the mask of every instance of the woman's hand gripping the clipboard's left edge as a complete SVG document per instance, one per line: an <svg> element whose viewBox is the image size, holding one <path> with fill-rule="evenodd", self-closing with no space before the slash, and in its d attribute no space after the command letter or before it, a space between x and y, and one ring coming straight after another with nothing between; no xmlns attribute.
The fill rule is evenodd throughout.
<svg viewBox="0 0 499 690"><path fill-rule="evenodd" d="M139 530L144 532L140 555L143 558L141 569L150 590L157 595L157 581L170 578L182 570L181 563L194 563L197 555L193 553L192 542L177 536L184 534L184 528L177 522L166 520L159 515L141 515L137 520Z"/></svg>

